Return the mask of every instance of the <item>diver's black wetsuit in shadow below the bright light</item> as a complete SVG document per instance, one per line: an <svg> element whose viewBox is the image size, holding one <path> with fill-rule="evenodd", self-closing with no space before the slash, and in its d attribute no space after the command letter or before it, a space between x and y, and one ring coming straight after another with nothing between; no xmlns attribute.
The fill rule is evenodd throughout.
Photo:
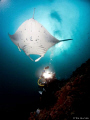
<svg viewBox="0 0 90 120"><path fill-rule="evenodd" d="M52 82L45 84L41 89L45 89L42 92L42 95L40 97L40 107L46 107L53 105L57 98L55 97L55 92L59 89L59 80L53 79Z"/></svg>

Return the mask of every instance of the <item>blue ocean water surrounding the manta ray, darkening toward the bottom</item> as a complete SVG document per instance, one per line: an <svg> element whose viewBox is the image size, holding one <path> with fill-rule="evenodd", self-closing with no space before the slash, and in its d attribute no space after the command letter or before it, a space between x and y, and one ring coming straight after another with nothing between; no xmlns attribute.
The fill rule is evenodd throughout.
<svg viewBox="0 0 90 120"><path fill-rule="evenodd" d="M36 63L8 36L32 18L34 8L35 20L54 37L73 39L55 45ZM90 0L0 0L1 111L21 110L24 105L29 114L30 105L39 99L37 80L44 67L49 65L57 79L67 79L89 58Z"/></svg>

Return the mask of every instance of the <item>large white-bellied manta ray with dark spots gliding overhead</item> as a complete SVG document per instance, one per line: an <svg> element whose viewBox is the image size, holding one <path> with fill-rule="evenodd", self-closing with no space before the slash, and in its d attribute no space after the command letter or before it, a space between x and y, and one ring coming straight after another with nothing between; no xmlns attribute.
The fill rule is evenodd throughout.
<svg viewBox="0 0 90 120"><path fill-rule="evenodd" d="M33 59L30 57L31 54L40 55L35 62L39 61L47 50L55 44L72 40L58 40L52 36L43 25L34 19L34 14L31 19L26 20L20 25L15 34L8 35L12 42L18 47L19 51L22 49L32 61Z"/></svg>

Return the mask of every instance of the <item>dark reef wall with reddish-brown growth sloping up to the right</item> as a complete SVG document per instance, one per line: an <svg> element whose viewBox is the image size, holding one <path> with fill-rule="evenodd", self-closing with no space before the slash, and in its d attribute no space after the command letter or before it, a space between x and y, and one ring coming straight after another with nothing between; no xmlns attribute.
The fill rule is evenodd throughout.
<svg viewBox="0 0 90 120"><path fill-rule="evenodd" d="M54 93L56 102L40 113L30 113L28 120L90 119L90 59L73 72L69 81ZM53 99L51 99L53 101Z"/></svg>

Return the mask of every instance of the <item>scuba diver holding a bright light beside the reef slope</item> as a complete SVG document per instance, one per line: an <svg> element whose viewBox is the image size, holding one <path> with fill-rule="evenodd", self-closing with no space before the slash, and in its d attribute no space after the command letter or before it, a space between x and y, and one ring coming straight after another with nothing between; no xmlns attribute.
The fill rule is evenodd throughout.
<svg viewBox="0 0 90 120"><path fill-rule="evenodd" d="M45 67L38 79L40 103L39 107L48 107L55 103L55 92L59 89L59 80L56 79L55 73L49 71L49 66Z"/></svg>

